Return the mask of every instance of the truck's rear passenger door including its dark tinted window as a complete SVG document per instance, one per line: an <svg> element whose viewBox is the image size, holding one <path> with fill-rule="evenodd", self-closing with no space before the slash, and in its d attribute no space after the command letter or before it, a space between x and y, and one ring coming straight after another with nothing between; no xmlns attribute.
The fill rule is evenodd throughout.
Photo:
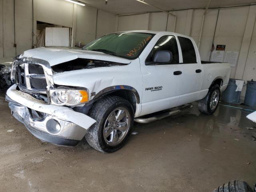
<svg viewBox="0 0 256 192"><path fill-rule="evenodd" d="M196 101L202 82L202 66L194 40L178 36L182 50L182 82L178 105Z"/></svg>

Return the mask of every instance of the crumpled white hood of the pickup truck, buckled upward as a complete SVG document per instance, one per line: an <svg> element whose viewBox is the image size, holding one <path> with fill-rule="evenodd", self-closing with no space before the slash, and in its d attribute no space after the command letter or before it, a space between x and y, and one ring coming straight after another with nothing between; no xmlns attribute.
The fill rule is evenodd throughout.
<svg viewBox="0 0 256 192"><path fill-rule="evenodd" d="M58 48L58 47L40 47L30 49L24 52L22 57L31 57L46 60L50 66L64 63L76 58L86 58L92 60L104 60L111 62L118 62L123 64L129 64L131 61L125 58L120 58L102 52L82 50L76 48Z"/></svg>

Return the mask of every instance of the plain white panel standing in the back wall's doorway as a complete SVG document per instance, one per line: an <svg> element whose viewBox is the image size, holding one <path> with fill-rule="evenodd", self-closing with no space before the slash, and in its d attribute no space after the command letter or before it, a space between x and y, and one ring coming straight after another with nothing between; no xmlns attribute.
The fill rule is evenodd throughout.
<svg viewBox="0 0 256 192"><path fill-rule="evenodd" d="M46 27L45 46L69 46L69 28Z"/></svg>

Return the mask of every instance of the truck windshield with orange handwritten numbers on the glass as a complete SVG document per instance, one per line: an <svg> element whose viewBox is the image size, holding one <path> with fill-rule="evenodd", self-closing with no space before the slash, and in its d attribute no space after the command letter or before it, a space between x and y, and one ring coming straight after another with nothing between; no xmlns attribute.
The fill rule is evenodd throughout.
<svg viewBox="0 0 256 192"><path fill-rule="evenodd" d="M135 59L153 38L154 34L140 32L118 32L104 35L83 47L85 50Z"/></svg>

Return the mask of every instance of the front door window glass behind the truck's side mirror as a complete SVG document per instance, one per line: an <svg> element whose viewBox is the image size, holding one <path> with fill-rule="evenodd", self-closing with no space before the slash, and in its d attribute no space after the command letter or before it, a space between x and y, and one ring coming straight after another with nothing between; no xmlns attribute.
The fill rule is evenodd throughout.
<svg viewBox="0 0 256 192"><path fill-rule="evenodd" d="M154 48L148 55L146 62L152 62L154 59L154 55L159 50L168 50L172 52L172 62L170 64L178 64L179 63L179 52L177 41L174 36L162 36L158 42L155 44Z"/></svg>

